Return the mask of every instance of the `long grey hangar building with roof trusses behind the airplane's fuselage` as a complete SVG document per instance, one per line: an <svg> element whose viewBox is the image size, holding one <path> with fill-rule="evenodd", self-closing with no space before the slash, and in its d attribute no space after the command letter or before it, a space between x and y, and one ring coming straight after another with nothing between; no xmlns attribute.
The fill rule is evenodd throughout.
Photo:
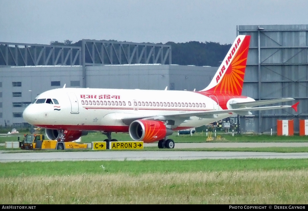
<svg viewBox="0 0 308 211"><path fill-rule="evenodd" d="M83 40L82 47L0 43L0 126L27 127L22 112L66 87L201 90L216 67L171 63L171 46ZM88 58L88 59L86 59Z"/></svg>

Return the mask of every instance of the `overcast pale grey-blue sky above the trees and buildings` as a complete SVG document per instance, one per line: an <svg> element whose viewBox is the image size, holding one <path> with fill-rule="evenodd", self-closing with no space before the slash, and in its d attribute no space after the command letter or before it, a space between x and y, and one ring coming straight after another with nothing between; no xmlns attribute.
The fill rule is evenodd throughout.
<svg viewBox="0 0 308 211"><path fill-rule="evenodd" d="M0 42L233 43L237 25L308 24L307 0L0 0Z"/></svg>

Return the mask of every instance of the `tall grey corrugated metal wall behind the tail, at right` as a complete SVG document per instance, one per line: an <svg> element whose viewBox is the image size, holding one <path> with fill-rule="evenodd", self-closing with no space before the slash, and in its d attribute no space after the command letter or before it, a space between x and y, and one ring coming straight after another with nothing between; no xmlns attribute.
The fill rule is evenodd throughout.
<svg viewBox="0 0 308 211"><path fill-rule="evenodd" d="M277 131L278 119L308 118L308 25L237 26L237 34L251 35L243 95L255 100L292 97L299 101L298 112L292 109L253 112L241 117L243 132ZM279 105L279 104L275 104ZM280 104L282 105L282 104Z"/></svg>

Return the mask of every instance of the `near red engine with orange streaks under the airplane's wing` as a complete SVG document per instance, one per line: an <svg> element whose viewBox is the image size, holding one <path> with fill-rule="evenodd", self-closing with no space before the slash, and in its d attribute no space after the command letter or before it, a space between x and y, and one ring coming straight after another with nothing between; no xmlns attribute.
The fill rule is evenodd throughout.
<svg viewBox="0 0 308 211"><path fill-rule="evenodd" d="M164 122L154 120L136 120L129 126L129 135L135 141L152 143L171 135L173 130L166 128Z"/></svg>

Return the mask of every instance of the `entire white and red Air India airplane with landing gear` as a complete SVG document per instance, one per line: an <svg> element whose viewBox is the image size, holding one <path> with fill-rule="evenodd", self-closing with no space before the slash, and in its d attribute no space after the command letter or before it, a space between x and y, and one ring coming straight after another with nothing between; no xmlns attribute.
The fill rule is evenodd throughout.
<svg viewBox="0 0 308 211"><path fill-rule="evenodd" d="M174 148L168 136L173 131L203 126L233 114L286 109L292 106L264 106L293 98L260 100L242 96L249 35L235 39L210 84L200 91L140 89L52 89L39 94L26 107L23 118L45 128L48 139L68 142L87 131L107 135L104 141L117 141L111 132L129 133L134 141ZM256 107L261 106L261 107ZM264 107L262 107L264 106Z"/></svg>

